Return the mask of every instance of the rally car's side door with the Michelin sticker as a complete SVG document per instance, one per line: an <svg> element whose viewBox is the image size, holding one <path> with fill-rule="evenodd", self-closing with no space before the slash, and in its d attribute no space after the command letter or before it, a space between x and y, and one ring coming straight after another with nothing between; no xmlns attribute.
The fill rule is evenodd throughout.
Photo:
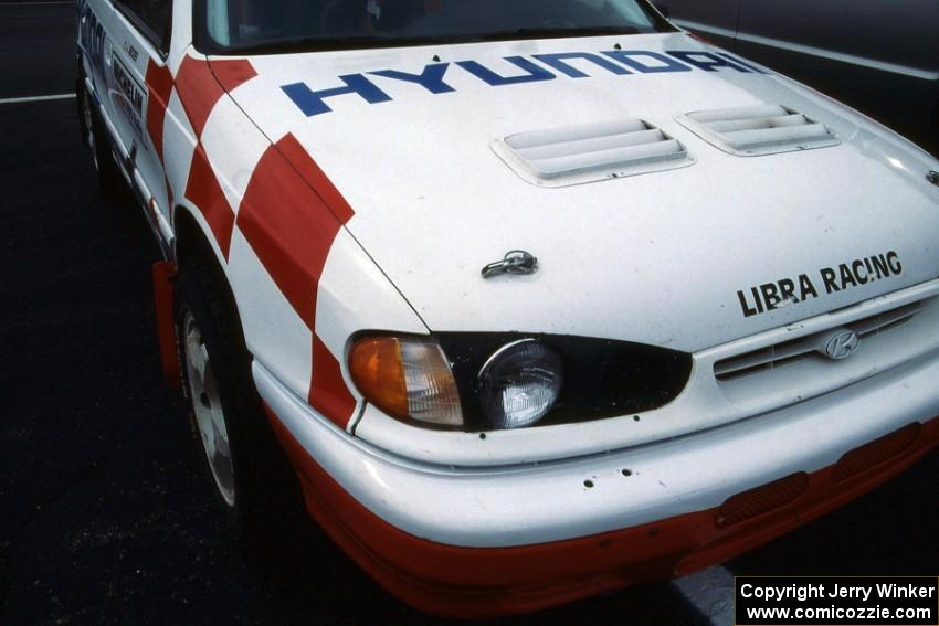
<svg viewBox="0 0 939 626"><path fill-rule="evenodd" d="M125 162L136 191L147 210L158 241L172 240L170 198L166 184L159 139L147 128L147 108L158 97L147 89L147 73L162 67L170 44L172 2L162 0L113 0L115 19L110 28L112 57L109 89L114 125L127 150ZM166 103L162 103L163 108ZM156 140L155 140L156 139Z"/></svg>

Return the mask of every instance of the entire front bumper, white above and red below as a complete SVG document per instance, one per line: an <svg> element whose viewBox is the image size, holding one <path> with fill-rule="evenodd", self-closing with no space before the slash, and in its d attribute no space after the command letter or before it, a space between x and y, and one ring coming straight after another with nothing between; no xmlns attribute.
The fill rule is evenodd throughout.
<svg viewBox="0 0 939 626"><path fill-rule="evenodd" d="M838 507L939 443L936 356L671 442L488 469L389 455L316 415L261 365L254 374L312 514L389 591L451 616L534 611L708 566Z"/></svg>

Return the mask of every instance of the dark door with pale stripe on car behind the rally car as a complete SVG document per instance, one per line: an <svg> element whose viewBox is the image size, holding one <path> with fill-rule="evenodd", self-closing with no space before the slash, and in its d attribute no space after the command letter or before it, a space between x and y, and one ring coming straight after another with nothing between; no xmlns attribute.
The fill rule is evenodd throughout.
<svg viewBox="0 0 939 626"><path fill-rule="evenodd" d="M737 52L917 136L939 93L936 0L742 0Z"/></svg>

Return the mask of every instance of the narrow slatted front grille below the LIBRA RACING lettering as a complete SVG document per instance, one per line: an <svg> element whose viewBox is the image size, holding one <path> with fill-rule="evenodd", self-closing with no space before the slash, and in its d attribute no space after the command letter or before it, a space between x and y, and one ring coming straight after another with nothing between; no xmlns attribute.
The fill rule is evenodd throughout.
<svg viewBox="0 0 939 626"><path fill-rule="evenodd" d="M717 361L714 364L714 375L718 381L732 381L756 372L772 370L784 363L802 359L827 360L824 356L825 340L836 330L853 330L859 338L886 332L899 325L906 323L925 307L924 301L912 303L896 309L866 317L837 328L826 329L814 335L800 337L792 341L776 343L767 348L738 354Z"/></svg>

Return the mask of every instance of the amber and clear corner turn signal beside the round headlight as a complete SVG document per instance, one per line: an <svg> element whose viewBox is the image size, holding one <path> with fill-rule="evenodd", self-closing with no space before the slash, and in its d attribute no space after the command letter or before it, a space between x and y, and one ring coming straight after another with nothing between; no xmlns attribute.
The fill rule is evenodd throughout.
<svg viewBox="0 0 939 626"><path fill-rule="evenodd" d="M432 339L366 337L349 352L352 381L389 415L441 426L463 425L450 363Z"/></svg>

